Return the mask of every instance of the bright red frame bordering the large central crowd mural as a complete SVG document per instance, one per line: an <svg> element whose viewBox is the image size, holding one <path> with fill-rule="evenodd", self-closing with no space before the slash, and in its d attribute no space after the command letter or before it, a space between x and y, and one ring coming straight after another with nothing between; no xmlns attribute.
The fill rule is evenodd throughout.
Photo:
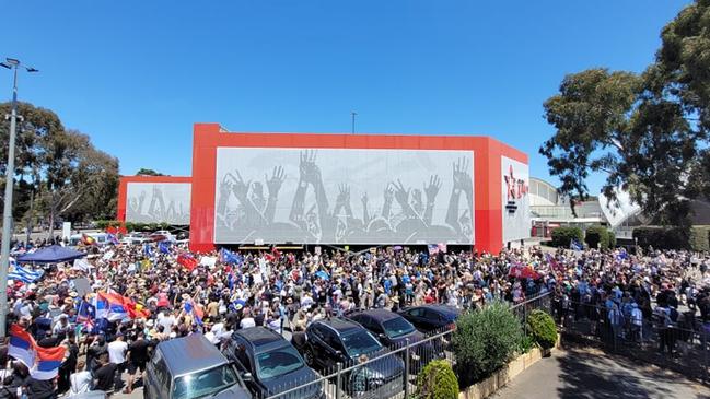
<svg viewBox="0 0 710 399"><path fill-rule="evenodd" d="M503 246L501 156L527 164L526 154L489 137L225 132L218 124L195 124L190 249L196 251L214 248L214 178L218 146L474 151L476 248L492 253L498 253Z"/></svg>

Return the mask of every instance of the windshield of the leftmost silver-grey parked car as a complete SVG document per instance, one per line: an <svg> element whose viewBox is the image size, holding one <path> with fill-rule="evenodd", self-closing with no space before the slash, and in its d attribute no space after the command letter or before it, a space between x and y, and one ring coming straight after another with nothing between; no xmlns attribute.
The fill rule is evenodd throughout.
<svg viewBox="0 0 710 399"><path fill-rule="evenodd" d="M236 373L224 364L203 372L175 378L173 398L197 399L220 392L236 384Z"/></svg>

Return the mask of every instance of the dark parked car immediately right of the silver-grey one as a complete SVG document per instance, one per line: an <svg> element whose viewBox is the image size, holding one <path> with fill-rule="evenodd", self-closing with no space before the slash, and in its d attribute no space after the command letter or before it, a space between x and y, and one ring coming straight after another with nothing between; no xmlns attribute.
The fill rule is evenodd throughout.
<svg viewBox="0 0 710 399"><path fill-rule="evenodd" d="M318 378L289 341L265 327L236 330L224 352L257 398L267 398ZM279 398L321 399L325 395L316 383Z"/></svg>

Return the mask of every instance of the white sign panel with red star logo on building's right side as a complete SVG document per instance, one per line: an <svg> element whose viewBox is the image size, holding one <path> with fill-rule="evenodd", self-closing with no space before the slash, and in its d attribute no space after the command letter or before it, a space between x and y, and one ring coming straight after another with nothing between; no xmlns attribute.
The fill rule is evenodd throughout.
<svg viewBox="0 0 710 399"><path fill-rule="evenodd" d="M529 172L527 165L501 156L503 200L503 244L531 234Z"/></svg>

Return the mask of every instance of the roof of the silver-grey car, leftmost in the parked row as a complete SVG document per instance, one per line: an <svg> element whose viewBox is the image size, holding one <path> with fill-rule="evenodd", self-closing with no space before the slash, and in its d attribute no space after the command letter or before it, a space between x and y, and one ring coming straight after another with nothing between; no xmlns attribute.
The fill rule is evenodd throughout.
<svg viewBox="0 0 710 399"><path fill-rule="evenodd" d="M229 363L217 347L201 333L163 341L156 349L163 354L173 378Z"/></svg>

